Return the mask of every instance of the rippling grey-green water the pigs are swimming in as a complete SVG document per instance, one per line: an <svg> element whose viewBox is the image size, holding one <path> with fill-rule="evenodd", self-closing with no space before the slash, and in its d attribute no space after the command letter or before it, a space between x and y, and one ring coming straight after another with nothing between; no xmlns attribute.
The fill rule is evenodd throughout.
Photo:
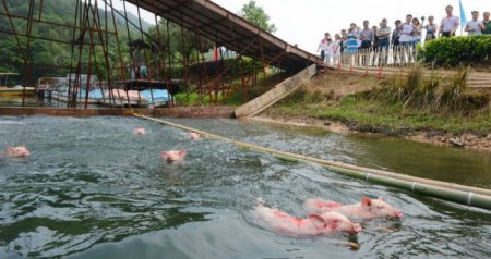
<svg viewBox="0 0 491 259"><path fill-rule="evenodd" d="M280 150L491 186L488 153L230 120L177 122ZM132 135L137 126L148 135ZM26 144L32 155L0 161L0 258L491 257L489 211L220 140L191 141L152 122L0 118L0 146ZM177 148L188 149L185 162L161 162L161 150ZM361 195L384 196L405 219L362 222L358 237L298 239L261 229L248 214L260 197L304 217L307 198L356 202Z"/></svg>

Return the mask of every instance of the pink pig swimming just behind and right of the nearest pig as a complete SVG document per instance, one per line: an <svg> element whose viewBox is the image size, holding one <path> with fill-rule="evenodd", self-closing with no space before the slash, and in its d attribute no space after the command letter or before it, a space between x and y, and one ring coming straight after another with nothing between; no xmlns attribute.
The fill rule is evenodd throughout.
<svg viewBox="0 0 491 259"><path fill-rule="evenodd" d="M369 199L361 197L361 202L356 205L343 205L331 200L308 199L303 207L309 212L339 212L348 218L358 219L373 219L373 218L395 218L402 219L403 212L392 208L383 201L382 197L379 199Z"/></svg>

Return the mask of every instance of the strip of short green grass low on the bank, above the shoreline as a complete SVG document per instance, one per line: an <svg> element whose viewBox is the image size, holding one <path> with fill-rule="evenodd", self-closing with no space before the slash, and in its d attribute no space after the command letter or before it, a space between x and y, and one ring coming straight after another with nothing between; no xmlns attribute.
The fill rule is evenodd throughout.
<svg viewBox="0 0 491 259"><path fill-rule="evenodd" d="M337 103L306 103L284 101L270 109L271 114L286 116L311 116L346 123L354 131L407 135L416 131L448 133L472 132L488 134L491 128L491 112L471 115L438 114L405 108L402 102L387 103L366 96L348 96Z"/></svg>

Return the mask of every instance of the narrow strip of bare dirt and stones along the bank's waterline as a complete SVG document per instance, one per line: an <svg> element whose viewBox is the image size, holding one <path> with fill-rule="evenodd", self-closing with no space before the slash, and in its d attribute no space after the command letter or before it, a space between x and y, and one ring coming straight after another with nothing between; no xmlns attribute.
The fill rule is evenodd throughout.
<svg viewBox="0 0 491 259"><path fill-rule="evenodd" d="M268 116L258 115L248 118L247 120L278 123L283 125L292 125L300 127L316 127L336 134L369 134L379 137L388 137L382 133L370 133L351 130L346 123L333 120L321 120L315 118L297 118L297 116ZM394 136L391 136L394 137ZM459 148L483 152L491 152L491 134L486 137L477 136L470 133L460 135L438 133L434 131L417 131L411 134L395 136L410 141L430 144L447 148Z"/></svg>

